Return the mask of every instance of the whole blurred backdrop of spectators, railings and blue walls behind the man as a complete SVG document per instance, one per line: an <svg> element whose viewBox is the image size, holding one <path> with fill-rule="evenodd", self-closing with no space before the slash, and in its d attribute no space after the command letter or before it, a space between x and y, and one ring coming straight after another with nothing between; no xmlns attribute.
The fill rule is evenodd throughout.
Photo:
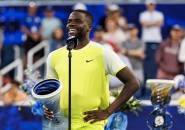
<svg viewBox="0 0 185 130"><path fill-rule="evenodd" d="M147 130L152 105L146 80L173 80L185 73L184 8L185 0L1 0L0 130L41 130L41 118L31 113L30 96L20 86L30 68L45 78L47 55L65 46L67 18L74 9L93 15L91 40L113 49L140 81L135 97L142 111L138 116L127 112L128 130L138 125ZM111 90L122 87L110 79ZM176 103L184 92L178 87L171 92L172 130L185 129Z"/></svg>

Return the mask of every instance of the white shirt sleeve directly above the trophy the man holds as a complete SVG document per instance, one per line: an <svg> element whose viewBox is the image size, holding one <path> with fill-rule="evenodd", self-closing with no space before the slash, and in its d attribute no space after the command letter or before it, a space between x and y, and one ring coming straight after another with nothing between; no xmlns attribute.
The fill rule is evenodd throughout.
<svg viewBox="0 0 185 130"><path fill-rule="evenodd" d="M47 70L46 70L46 78L47 79L58 79L58 75L54 69L54 66L52 65L52 55L49 54L47 58Z"/></svg>

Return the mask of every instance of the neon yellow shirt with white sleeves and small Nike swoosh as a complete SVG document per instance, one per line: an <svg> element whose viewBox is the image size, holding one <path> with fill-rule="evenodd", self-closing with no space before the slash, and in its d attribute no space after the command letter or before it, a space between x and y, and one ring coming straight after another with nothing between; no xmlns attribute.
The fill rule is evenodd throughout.
<svg viewBox="0 0 185 130"><path fill-rule="evenodd" d="M109 106L108 74L116 75L125 64L110 49L90 42L79 50L72 50L72 130L103 130L105 121L84 122L83 112L105 109ZM60 48L47 59L47 77L63 84L60 106L68 114L68 50Z"/></svg>

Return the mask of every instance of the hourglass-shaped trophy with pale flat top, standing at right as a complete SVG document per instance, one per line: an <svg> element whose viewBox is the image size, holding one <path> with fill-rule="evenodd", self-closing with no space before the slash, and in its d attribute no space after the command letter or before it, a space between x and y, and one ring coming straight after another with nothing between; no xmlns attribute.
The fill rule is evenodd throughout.
<svg viewBox="0 0 185 130"><path fill-rule="evenodd" d="M170 102L170 90L174 81L149 79L146 83L151 88L151 102L154 107L147 120L147 125L150 130L168 130L172 127L173 122L166 107Z"/></svg>

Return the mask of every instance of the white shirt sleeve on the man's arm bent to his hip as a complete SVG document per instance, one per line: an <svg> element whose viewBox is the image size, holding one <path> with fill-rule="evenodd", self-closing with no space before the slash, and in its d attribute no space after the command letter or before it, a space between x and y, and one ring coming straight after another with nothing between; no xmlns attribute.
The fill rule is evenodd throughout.
<svg viewBox="0 0 185 130"><path fill-rule="evenodd" d="M104 48L104 58L106 74L116 76L121 69L126 67L126 64L111 49Z"/></svg>

